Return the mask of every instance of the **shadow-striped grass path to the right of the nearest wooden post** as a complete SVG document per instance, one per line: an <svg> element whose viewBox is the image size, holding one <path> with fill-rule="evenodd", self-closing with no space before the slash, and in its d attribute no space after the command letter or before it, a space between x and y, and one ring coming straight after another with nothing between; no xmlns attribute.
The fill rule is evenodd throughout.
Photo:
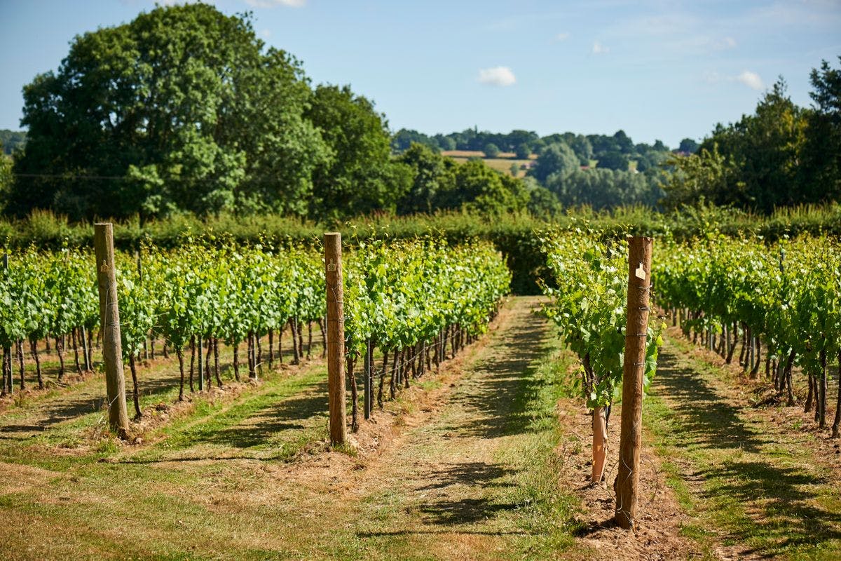
<svg viewBox="0 0 841 561"><path fill-rule="evenodd" d="M841 558L841 489L807 445L769 421L738 378L677 336L643 408L667 479L711 558ZM713 545L718 543L719 545Z"/></svg>

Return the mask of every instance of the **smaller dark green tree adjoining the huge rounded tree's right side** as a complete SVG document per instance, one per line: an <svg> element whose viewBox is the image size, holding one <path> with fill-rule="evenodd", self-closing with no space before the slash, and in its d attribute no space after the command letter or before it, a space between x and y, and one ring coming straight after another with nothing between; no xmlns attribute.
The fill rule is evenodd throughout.
<svg viewBox="0 0 841 561"><path fill-rule="evenodd" d="M331 158L313 173L309 215L322 219L394 211L410 171L391 161L388 122L349 86L315 88L304 113L320 130Z"/></svg>

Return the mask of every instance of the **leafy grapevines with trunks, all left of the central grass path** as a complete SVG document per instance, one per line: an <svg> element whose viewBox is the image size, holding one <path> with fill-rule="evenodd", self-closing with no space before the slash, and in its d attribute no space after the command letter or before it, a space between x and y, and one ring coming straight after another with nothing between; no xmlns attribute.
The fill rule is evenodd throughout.
<svg viewBox="0 0 841 561"><path fill-rule="evenodd" d="M93 255L86 251L32 250L14 255L10 266L0 272L0 347L10 356L11 349L29 342L41 387L37 343L48 336L55 337L60 378L65 371L61 349L65 339L81 338L83 362L93 364L93 333L99 324L93 265ZM447 344L454 354L484 331L510 283L505 262L484 242L450 247L434 239L357 241L357 248L346 255L344 272L348 369L352 373L357 358L368 348L379 349L378 357L385 365L378 368L380 404L386 377L389 395L394 397L401 385L409 385L411 375L422 375L433 360L440 363ZM246 343L248 373L257 378L264 363L263 337L268 336L267 363L272 368L275 335L280 347L279 337L288 328L297 362L304 352L304 325L310 326L308 352L311 325L321 325L323 332L324 263L320 251L313 248L218 248L203 240L178 251L146 246L135 255L118 253L117 280L122 350L134 379L137 415L141 411L136 359L148 347L154 355L157 339L165 341L165 353L171 347L177 354L179 399L183 400L186 348L193 357L198 350L199 361L206 349L208 366L213 353L216 383L221 385L220 341L233 349L236 379L240 378L240 348ZM198 349L197 341L204 341ZM23 388L22 351L19 359ZM12 384L11 361L4 359L3 366L6 391ZM211 384L210 368L205 375ZM354 423L355 381L351 376Z"/></svg>

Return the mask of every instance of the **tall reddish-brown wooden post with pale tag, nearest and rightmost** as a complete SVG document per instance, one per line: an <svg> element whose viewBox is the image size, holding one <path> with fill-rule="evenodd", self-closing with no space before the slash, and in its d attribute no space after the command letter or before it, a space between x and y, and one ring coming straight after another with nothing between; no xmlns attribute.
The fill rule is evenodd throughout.
<svg viewBox="0 0 841 561"><path fill-rule="evenodd" d="M643 440L643 373L648 334L653 240L633 236L628 241L628 300L625 363L622 368L622 414L619 466L616 474L616 524L630 529L637 516L639 453Z"/></svg>

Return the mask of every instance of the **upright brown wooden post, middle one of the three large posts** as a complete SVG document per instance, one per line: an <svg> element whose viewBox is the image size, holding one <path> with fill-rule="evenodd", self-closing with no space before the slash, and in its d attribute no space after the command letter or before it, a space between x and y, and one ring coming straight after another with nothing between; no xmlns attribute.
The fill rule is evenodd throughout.
<svg viewBox="0 0 841 561"><path fill-rule="evenodd" d="M341 278L341 234L324 235L327 296L327 391L330 403L330 442L344 444L347 437L345 404L345 312Z"/></svg>

